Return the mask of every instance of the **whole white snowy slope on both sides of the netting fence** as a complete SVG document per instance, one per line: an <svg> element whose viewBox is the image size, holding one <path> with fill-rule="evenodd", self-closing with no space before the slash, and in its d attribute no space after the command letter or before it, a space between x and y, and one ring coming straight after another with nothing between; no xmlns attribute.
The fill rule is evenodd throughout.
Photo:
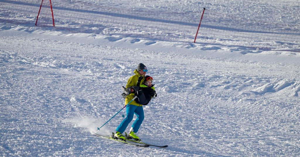
<svg viewBox="0 0 300 157"><path fill-rule="evenodd" d="M0 4L15 2L20 1ZM29 2L15 6L23 10ZM292 0L88 2L144 11L204 6L299 25L298 2ZM280 14L287 9L289 16ZM74 33L18 23L35 14L18 13L17 21L11 15L0 14L0 156L300 155L297 52ZM91 134L124 106L120 87L140 62L154 78L158 97L144 106L138 135L167 148L139 148ZM123 114L97 132L110 135Z"/></svg>

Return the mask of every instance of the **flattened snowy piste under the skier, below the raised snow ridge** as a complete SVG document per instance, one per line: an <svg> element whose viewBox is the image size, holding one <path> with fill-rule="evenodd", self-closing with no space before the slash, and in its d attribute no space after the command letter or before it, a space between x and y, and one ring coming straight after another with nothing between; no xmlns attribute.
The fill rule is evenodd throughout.
<svg viewBox="0 0 300 157"><path fill-rule="evenodd" d="M276 156L299 149L294 65L38 41L35 36L1 38L2 140L12 140L2 145L6 154L72 156L113 149L111 145L130 148L89 132L122 107L119 87L132 74L136 59L145 56L157 56L144 63L155 78L158 98L145 107L140 135L145 142L170 147L142 154ZM11 50L10 43L22 50ZM101 133L109 135L122 114ZM19 143L23 147L16 148Z"/></svg>

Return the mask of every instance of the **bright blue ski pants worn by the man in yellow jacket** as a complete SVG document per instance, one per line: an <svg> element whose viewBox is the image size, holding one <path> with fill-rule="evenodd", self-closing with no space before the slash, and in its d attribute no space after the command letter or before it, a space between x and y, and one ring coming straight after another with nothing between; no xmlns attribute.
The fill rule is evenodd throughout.
<svg viewBox="0 0 300 157"><path fill-rule="evenodd" d="M132 124L133 132L137 133L139 128L144 120L144 110L143 106L136 106L128 104L126 106L126 118L121 122L118 126L116 131L123 133L127 128L128 124L132 121L134 114L137 115L137 119L135 119L134 123Z"/></svg>

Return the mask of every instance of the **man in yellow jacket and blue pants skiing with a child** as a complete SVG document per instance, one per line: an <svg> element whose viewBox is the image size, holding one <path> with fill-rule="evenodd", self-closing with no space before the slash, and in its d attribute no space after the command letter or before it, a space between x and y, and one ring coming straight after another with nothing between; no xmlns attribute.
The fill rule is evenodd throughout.
<svg viewBox="0 0 300 157"><path fill-rule="evenodd" d="M140 84L141 83L143 84L143 82L146 82L145 75L146 75L147 71L148 71L147 67L143 63L140 63L137 66L137 69L134 71L135 75L131 76L128 79L126 88L123 87L124 93L126 95L125 104L128 104L135 97L135 95L137 95L138 97L141 95L144 95L144 97L146 98L145 94L143 93L143 89L140 89L140 88L149 88L149 86L140 87ZM149 80L151 80L151 86L152 86L152 77L147 77L147 78ZM149 83L148 83L148 85L149 85ZM151 93L151 95L157 96L157 94L155 93L154 89L152 89L152 87L151 87L151 90L153 90L153 92ZM122 94L122 96L124 96L123 94ZM146 95L148 95L147 92L146 92ZM145 101L142 99L140 99L140 100ZM136 100L131 101L131 103L126 106L126 113L127 113L126 118L116 128L116 133L114 134L114 137L126 140L126 137L124 137L124 135L122 133L125 131L128 124L133 119L134 114L136 114L137 119L132 124L132 127L129 130L129 134L128 134L127 138L134 138L135 140L140 140L140 138L135 133L137 133L137 131L140 128L140 125L142 124L142 122L144 120L143 104L145 104L145 103L140 102L140 101L137 102L137 101Z"/></svg>

